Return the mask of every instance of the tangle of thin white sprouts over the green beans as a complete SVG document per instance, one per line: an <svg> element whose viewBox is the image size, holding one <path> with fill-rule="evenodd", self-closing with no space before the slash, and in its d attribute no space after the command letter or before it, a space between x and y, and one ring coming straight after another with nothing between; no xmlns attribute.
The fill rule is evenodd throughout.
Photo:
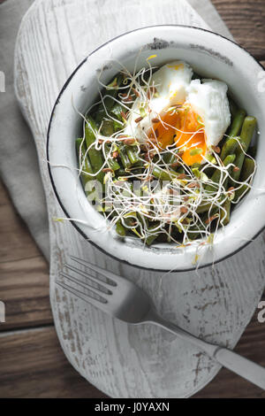
<svg viewBox="0 0 265 416"><path fill-rule="evenodd" d="M102 151L103 157L100 169L91 173L94 179L99 173L104 173L104 192L93 194L95 199L97 198L96 209L102 212L110 227L120 224L126 230L125 235L140 238L143 243L150 244L156 240L172 242L178 247L191 243L212 244L218 228L224 227L229 215L226 204L238 204L251 188L256 169L255 162L254 172L246 181L235 181L232 178L231 174L236 166L233 163L224 166L219 152L214 147L211 155L202 157L201 166L187 166L182 159L183 150L194 135L203 131L202 122L201 130L194 131L185 144L178 145L177 142L165 149L156 139L155 131L154 135L145 133L144 143L135 135L125 135L125 127L129 119L151 117L149 103L154 96L157 96L157 85L152 81L155 68L149 64L149 61L147 62L148 67L143 67L139 71L136 71L137 65L135 65L133 73L122 66L120 74L123 81L118 86L116 81L104 85L99 76L99 84L104 87L106 93L102 96L100 92L100 101L87 111L87 114L96 114L101 105L105 113L101 124L94 132L95 143L87 147L87 154L89 150L95 148ZM116 94L112 94L113 90L116 90ZM107 103L111 100L112 105L121 105L122 112L118 117L108 110ZM188 107L185 105L181 108L176 105L167 111L172 114L185 112L186 109ZM84 142L87 114L82 116ZM152 117L154 117L153 113ZM155 117L164 128L175 129L181 134L186 133L165 123L160 114L155 114ZM103 125L106 121L115 123L116 126L110 135L103 134ZM114 172L111 162L125 143L128 143L128 139L139 163L128 167L122 173ZM196 147L196 143L191 146L191 150L193 146ZM240 143L239 146L246 154ZM175 170L167 163L170 157L176 160ZM79 174L87 174L83 171L84 164L85 159L79 154ZM217 182L211 179L212 173L216 171L219 171ZM233 187L229 189L227 189L228 181L233 182ZM91 182L87 181L87 184L91 191ZM241 190L240 196L236 197L239 190Z"/></svg>

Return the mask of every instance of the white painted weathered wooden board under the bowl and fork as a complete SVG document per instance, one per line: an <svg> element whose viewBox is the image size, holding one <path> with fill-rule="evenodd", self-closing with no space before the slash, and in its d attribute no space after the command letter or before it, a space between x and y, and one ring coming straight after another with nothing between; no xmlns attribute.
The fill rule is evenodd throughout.
<svg viewBox="0 0 265 416"><path fill-rule="evenodd" d="M231 348L251 319L265 283L262 235L214 268L162 276L119 264L87 243L70 223L52 220L64 214L47 169L49 115L79 61L102 42L135 27L207 27L183 0L150 3L124 0L121 7L119 0L37 0L23 19L15 52L16 93L34 135L49 208L50 300L57 335L72 366L110 397L189 397L220 367L163 329L129 327L56 288L55 277L69 254L136 281L164 318Z"/></svg>

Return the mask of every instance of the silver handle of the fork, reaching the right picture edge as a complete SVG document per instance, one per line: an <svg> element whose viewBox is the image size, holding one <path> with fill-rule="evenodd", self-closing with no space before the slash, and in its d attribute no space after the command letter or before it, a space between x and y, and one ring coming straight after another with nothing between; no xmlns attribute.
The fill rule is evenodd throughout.
<svg viewBox="0 0 265 416"><path fill-rule="evenodd" d="M241 357L234 351L207 343L206 341L197 338L177 325L163 320L163 318L154 311L150 313L148 321L169 330L172 334L178 335L178 337L183 340L193 343L193 345L198 347L201 351L206 352L208 356L214 358L222 366L225 366L232 372L239 374L241 377L265 390L265 368L262 366L255 364L247 358Z"/></svg>

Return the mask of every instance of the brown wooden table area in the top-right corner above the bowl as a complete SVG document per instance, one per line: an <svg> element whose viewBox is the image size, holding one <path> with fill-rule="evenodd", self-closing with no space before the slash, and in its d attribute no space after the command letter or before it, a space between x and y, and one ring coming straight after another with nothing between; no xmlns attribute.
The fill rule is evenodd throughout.
<svg viewBox="0 0 265 416"><path fill-rule="evenodd" d="M212 0L231 34L255 58L265 58L264 0Z"/></svg>

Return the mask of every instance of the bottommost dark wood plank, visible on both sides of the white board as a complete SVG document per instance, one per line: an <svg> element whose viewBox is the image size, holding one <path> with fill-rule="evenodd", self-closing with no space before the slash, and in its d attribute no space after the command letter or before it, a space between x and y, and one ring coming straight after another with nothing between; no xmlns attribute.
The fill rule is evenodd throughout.
<svg viewBox="0 0 265 416"><path fill-rule="evenodd" d="M264 339L265 324L259 324L255 316L236 351L265 366ZM2 334L0 344L0 397L106 397L73 370L64 358L53 327L4 337ZM265 392L222 369L194 397L265 398Z"/></svg>

